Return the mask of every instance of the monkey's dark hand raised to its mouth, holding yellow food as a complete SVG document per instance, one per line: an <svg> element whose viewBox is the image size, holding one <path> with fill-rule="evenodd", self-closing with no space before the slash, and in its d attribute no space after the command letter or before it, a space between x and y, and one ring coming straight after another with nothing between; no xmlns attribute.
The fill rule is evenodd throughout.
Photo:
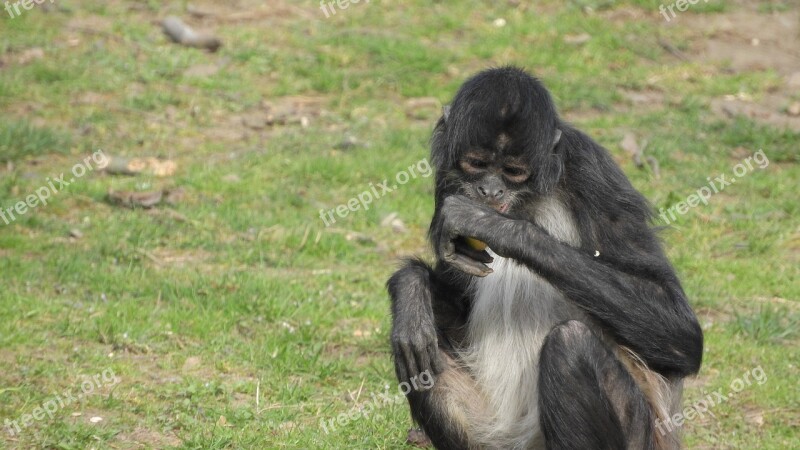
<svg viewBox="0 0 800 450"><path fill-rule="evenodd" d="M465 238L487 242L493 226L506 220L494 209L463 195L444 199L441 210L442 236L438 243L439 254L456 269L477 277L492 273L486 264L492 257L485 250L478 250ZM495 230L496 231L496 230ZM490 245L491 247L491 245Z"/></svg>

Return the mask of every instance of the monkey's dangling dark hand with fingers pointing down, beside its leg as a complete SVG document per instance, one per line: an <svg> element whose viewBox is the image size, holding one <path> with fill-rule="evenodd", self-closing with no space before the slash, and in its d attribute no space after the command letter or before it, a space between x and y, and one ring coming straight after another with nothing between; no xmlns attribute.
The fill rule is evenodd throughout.
<svg viewBox="0 0 800 450"><path fill-rule="evenodd" d="M409 302L395 314L391 341L398 380L408 381L426 370L438 375L445 369L430 304Z"/></svg>

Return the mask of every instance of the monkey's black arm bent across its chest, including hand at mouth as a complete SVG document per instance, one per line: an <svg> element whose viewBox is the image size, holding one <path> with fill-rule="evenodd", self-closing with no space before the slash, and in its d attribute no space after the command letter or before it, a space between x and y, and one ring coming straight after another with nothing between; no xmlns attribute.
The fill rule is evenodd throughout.
<svg viewBox="0 0 800 450"><path fill-rule="evenodd" d="M702 330L663 256L632 255L638 269L623 271L557 241L535 224L509 219L465 197L450 197L443 208L445 228L475 236L498 255L543 276L653 370L678 376L699 370Z"/></svg>

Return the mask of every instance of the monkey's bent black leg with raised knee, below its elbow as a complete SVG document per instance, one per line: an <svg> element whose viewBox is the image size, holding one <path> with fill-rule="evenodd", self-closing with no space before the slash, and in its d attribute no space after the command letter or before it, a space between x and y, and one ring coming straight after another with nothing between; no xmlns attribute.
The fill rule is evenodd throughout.
<svg viewBox="0 0 800 450"><path fill-rule="evenodd" d="M655 415L644 393L579 321L555 326L544 342L539 411L548 449L655 448Z"/></svg>

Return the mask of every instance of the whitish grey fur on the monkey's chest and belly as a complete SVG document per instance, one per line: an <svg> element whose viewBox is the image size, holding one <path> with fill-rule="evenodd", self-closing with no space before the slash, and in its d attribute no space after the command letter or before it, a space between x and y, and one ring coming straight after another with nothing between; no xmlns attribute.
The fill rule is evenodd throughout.
<svg viewBox="0 0 800 450"><path fill-rule="evenodd" d="M537 209L537 224L569 245L579 235L569 211L555 199ZM541 444L537 409L539 351L557 323L581 318L550 283L514 260L494 256L494 273L477 279L465 361L492 411L479 433L487 446L535 448ZM481 428L481 427L479 427Z"/></svg>

